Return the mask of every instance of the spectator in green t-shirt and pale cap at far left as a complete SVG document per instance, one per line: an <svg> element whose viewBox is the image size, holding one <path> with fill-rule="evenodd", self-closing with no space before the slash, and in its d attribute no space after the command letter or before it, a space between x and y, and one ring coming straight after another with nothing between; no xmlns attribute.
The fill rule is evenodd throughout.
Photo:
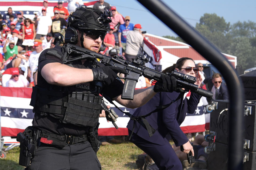
<svg viewBox="0 0 256 170"><path fill-rule="evenodd" d="M8 43L9 45L7 45ZM18 46L15 45L15 41L7 39L5 41L5 45L3 46L3 52L5 53L6 64L8 64L18 54Z"/></svg>

